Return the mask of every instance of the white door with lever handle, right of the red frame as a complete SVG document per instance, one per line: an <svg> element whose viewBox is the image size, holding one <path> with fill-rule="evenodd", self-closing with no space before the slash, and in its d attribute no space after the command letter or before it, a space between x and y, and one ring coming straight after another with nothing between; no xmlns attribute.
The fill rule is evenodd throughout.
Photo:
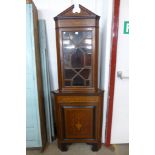
<svg viewBox="0 0 155 155"><path fill-rule="evenodd" d="M129 76L129 35L124 34L124 21L129 21L129 0L120 1L116 72ZM115 75L111 143L129 143L129 80Z"/></svg>

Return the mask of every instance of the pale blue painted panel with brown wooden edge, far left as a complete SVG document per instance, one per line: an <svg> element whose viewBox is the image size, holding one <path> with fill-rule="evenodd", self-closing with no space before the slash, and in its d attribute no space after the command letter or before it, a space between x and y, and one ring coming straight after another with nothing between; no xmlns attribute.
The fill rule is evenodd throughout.
<svg viewBox="0 0 155 155"><path fill-rule="evenodd" d="M46 126L43 104L37 9L26 1L26 147L43 148Z"/></svg>

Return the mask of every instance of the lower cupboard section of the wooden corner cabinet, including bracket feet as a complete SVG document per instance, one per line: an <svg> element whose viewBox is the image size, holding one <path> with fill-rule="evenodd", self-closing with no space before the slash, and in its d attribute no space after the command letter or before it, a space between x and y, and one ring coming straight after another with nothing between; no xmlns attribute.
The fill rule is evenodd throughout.
<svg viewBox="0 0 155 155"><path fill-rule="evenodd" d="M67 150L74 142L101 147L103 91L89 93L53 92L55 96L58 147Z"/></svg>

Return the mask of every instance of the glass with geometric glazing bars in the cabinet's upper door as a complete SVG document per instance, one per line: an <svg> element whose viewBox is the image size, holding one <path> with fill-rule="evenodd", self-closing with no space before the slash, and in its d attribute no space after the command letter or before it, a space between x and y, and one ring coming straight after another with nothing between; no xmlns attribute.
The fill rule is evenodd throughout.
<svg viewBox="0 0 155 155"><path fill-rule="evenodd" d="M92 85L92 31L63 33L65 86Z"/></svg>

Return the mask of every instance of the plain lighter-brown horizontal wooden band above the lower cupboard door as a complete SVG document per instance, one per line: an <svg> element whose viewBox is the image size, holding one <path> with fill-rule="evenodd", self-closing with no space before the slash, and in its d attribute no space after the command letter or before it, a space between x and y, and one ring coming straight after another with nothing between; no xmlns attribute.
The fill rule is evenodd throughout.
<svg viewBox="0 0 155 155"><path fill-rule="evenodd" d="M98 102L98 96L58 96L58 102L68 103L68 102Z"/></svg>

